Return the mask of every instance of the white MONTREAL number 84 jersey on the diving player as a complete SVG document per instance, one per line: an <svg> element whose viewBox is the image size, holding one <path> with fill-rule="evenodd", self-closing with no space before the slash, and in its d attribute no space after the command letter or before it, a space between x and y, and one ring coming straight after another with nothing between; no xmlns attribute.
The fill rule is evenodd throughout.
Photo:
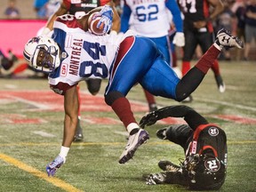
<svg viewBox="0 0 256 192"><path fill-rule="evenodd" d="M61 63L49 76L49 83L77 84L87 78L108 78L109 68L123 40L115 34L95 36L78 28L74 16L54 22L53 39L60 45ZM125 35L124 35L125 36Z"/></svg>

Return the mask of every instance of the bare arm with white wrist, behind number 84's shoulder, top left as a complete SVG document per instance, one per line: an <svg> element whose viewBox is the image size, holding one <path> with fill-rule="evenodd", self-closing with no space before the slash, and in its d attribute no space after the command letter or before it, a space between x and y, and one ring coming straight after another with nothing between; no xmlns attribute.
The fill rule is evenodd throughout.
<svg viewBox="0 0 256 192"><path fill-rule="evenodd" d="M68 13L68 7L62 2L60 4L60 8L54 14L52 14L52 17L47 21L43 31L43 35L47 35L53 29L54 20L56 20L58 16L66 13Z"/></svg>

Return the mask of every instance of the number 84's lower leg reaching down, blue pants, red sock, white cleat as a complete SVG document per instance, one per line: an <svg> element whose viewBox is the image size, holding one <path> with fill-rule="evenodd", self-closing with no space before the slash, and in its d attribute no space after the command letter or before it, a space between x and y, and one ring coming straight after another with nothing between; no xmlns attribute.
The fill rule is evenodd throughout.
<svg viewBox="0 0 256 192"><path fill-rule="evenodd" d="M126 94L151 67L159 55L156 44L147 38L127 37L120 44L116 62L113 65L105 92L105 101L123 122L129 139L119 163L124 164L134 155L137 148L149 139L148 132L140 129L133 116Z"/></svg>

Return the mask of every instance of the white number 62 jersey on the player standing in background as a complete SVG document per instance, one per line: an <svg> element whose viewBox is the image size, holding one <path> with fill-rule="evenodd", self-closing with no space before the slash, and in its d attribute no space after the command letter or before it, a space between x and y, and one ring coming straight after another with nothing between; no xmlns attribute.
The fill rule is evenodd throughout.
<svg viewBox="0 0 256 192"><path fill-rule="evenodd" d="M125 0L132 10L130 28L138 35L148 37L167 36L170 21L165 0Z"/></svg>

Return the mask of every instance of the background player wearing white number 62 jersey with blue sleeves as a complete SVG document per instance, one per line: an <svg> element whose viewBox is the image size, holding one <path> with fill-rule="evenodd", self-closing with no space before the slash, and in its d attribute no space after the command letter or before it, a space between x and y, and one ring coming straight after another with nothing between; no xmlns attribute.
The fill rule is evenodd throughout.
<svg viewBox="0 0 256 192"><path fill-rule="evenodd" d="M147 36L156 43L167 63L172 66L171 43L168 36L171 25L168 12L172 12L172 19L177 28L173 41L178 46L184 46L183 22L176 0L124 0L120 32L125 33L130 28L140 36ZM144 92L148 100L149 111L156 110L154 96L146 90Z"/></svg>

